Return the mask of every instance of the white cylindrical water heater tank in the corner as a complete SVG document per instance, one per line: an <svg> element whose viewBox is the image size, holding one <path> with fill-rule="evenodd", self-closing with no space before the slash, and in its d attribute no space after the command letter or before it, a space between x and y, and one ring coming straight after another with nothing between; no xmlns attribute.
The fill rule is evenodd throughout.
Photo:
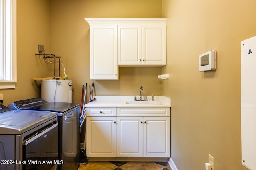
<svg viewBox="0 0 256 170"><path fill-rule="evenodd" d="M47 102L73 101L72 80L48 79L41 82L41 98Z"/></svg>

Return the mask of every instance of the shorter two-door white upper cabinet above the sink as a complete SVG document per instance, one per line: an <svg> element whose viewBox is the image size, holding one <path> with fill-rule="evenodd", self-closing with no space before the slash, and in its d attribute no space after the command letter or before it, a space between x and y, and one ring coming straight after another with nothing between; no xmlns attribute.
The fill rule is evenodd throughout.
<svg viewBox="0 0 256 170"><path fill-rule="evenodd" d="M166 23L118 25L118 66L166 65Z"/></svg>

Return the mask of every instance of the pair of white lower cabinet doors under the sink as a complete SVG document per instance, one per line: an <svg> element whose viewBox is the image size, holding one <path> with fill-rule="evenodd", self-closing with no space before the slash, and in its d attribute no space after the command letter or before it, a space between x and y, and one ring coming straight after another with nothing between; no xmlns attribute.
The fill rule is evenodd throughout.
<svg viewBox="0 0 256 170"><path fill-rule="evenodd" d="M117 156L170 157L170 117L117 117Z"/></svg>

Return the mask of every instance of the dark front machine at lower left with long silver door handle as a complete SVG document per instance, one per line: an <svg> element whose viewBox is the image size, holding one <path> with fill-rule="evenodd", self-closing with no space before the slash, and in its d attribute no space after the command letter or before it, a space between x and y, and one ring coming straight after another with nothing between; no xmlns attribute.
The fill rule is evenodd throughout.
<svg viewBox="0 0 256 170"><path fill-rule="evenodd" d="M0 161L0 170L56 170L61 164L57 114L0 104Z"/></svg>

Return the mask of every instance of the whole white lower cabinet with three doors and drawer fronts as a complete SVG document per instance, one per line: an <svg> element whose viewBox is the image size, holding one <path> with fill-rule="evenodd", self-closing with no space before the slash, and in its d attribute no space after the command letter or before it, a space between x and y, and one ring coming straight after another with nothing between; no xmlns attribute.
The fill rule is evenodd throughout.
<svg viewBox="0 0 256 170"><path fill-rule="evenodd" d="M170 108L110 108L118 116L109 117L99 116L106 108L87 109L88 157L170 157Z"/></svg>

